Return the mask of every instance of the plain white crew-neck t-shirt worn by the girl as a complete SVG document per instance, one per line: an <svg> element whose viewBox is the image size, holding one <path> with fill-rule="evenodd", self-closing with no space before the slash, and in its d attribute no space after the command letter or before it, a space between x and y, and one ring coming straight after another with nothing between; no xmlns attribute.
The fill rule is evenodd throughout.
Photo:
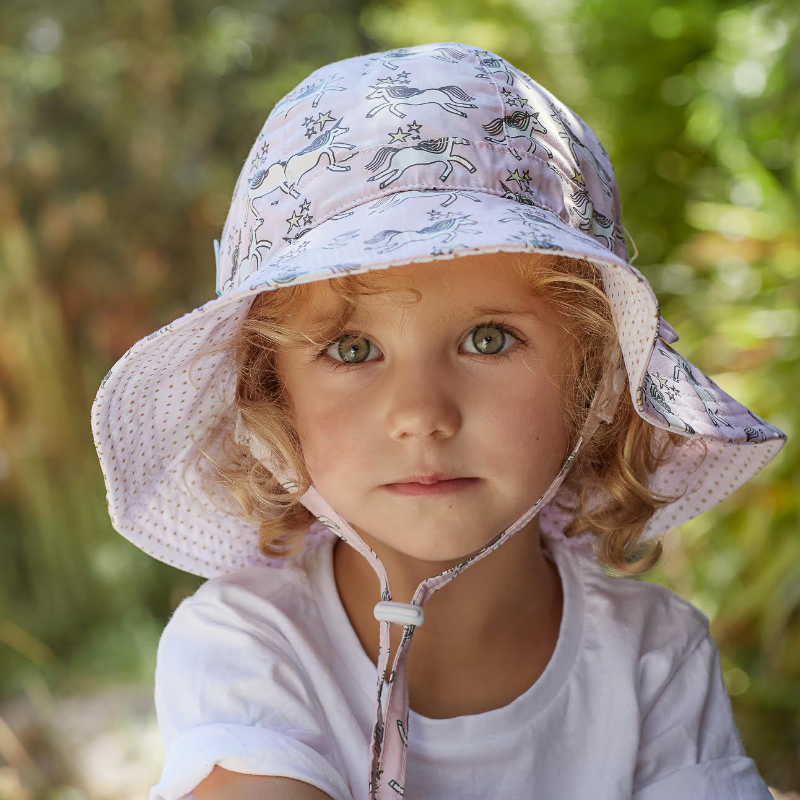
<svg viewBox="0 0 800 800"><path fill-rule="evenodd" d="M377 669L339 599L328 534L280 569L208 580L175 610L158 647L167 757L150 800L192 800L215 764L366 800ZM708 618L665 587L607 575L591 550L542 542L564 588L549 664L502 708L411 709L405 798L771 800Z"/></svg>

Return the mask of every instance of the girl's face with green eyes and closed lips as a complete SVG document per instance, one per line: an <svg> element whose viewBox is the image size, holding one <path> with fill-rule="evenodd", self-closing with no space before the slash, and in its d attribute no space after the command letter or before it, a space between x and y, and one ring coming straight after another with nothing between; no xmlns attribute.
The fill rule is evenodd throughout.
<svg viewBox="0 0 800 800"><path fill-rule="evenodd" d="M362 297L347 336L327 355L314 360L321 348L310 345L278 354L314 485L360 535L452 562L515 522L566 458L558 383L567 334L511 258L392 267L421 291L418 303ZM311 288L292 320L304 330L340 302L324 281ZM510 304L538 316L472 310ZM490 320L512 335L504 341ZM354 333L361 338L349 341ZM492 358L497 353L508 357ZM385 487L425 472L477 480L441 496Z"/></svg>

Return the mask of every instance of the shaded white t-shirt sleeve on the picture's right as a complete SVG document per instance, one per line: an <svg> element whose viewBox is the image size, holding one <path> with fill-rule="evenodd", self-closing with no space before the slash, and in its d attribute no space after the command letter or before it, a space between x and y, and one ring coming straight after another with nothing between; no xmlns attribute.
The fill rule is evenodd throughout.
<svg viewBox="0 0 800 800"><path fill-rule="evenodd" d="M632 800L771 800L748 758L708 632L676 666L663 653L642 657L643 722Z"/></svg>

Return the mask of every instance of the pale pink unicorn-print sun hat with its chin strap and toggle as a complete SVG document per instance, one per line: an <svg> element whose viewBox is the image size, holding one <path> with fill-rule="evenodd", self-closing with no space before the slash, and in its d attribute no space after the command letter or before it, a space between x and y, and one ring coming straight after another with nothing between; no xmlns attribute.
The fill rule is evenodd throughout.
<svg viewBox="0 0 800 800"><path fill-rule="evenodd" d="M657 436L678 433L698 445L675 449L653 475L653 491L680 496L653 514L644 539L723 500L786 439L673 349L677 334L629 263L608 154L577 114L488 50L439 42L312 72L270 112L214 251L217 296L136 342L92 406L115 529L154 558L203 577L283 562L259 552L257 526L198 488L187 465L199 433L230 421L236 440L285 488L298 485L234 414L235 381L221 357L190 369L200 348L236 332L255 295L401 264L520 251L590 262L611 304L622 361L600 381L548 490L478 552L423 581L411 603L392 601L380 559L314 486L301 499L323 531L367 559L381 584L373 799L404 794L406 663L425 602L537 514L543 534L574 546L553 500L581 444L613 419L626 377L636 412ZM403 626L403 636L382 703L391 624Z"/></svg>

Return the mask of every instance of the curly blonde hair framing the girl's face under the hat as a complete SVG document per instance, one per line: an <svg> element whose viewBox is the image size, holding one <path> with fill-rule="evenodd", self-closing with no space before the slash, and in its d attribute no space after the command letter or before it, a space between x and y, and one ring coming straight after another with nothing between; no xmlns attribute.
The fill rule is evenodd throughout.
<svg viewBox="0 0 800 800"><path fill-rule="evenodd" d="M595 389L604 372L622 361L611 305L599 271L588 261L561 255L531 257L515 253L513 264L531 292L553 312L553 320L567 332L565 379L560 384L562 408L572 449L586 418ZM312 480L303 458L293 421L291 398L275 366L283 347L313 344L322 349L352 316L358 298L387 292L419 290L388 270L330 278L326 284L339 297L334 318L315 330L292 324L308 300L310 284L280 287L256 295L235 335L206 344L193 360L222 355L229 364L236 391L232 413L241 418L250 435L269 446L279 463L298 477L296 491L288 491L249 448L235 441L230 420L217 420L205 431L190 464L213 498L222 490L233 501L240 520L258 530L258 550L269 558L297 552L316 517L300 503ZM601 424L585 441L562 484L557 498L570 514L564 535L593 537L598 562L611 574L639 575L655 566L663 547L660 537L642 540L644 529L661 507L677 499L648 488L656 469L688 439L643 420L625 389L610 424Z"/></svg>

